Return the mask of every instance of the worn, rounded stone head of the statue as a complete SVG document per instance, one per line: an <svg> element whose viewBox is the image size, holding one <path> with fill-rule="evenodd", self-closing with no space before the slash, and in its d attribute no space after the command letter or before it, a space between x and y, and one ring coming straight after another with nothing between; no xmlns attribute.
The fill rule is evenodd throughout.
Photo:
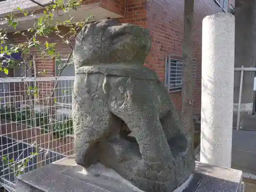
<svg viewBox="0 0 256 192"><path fill-rule="evenodd" d="M75 67L104 63L143 65L151 49L147 29L120 24L117 20L100 20L83 27L74 49Z"/></svg>

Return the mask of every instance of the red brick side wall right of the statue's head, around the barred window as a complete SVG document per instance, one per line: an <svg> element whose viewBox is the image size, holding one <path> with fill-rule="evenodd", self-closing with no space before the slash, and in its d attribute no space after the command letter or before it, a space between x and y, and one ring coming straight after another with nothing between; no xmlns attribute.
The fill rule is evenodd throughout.
<svg viewBox="0 0 256 192"><path fill-rule="evenodd" d="M233 4L234 0L229 3ZM234 5L234 4L233 4ZM184 0L148 0L147 28L152 35L152 51L146 65L164 80L165 55L182 56ZM206 15L223 12L215 0L195 0L194 57L197 59L194 89L194 113L201 112L201 47L202 20ZM181 92L170 94L178 110L181 110Z"/></svg>

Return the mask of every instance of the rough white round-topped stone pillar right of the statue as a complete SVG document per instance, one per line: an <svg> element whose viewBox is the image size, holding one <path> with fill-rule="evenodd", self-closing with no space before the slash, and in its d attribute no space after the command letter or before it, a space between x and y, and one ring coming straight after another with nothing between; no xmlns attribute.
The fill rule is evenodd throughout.
<svg viewBox="0 0 256 192"><path fill-rule="evenodd" d="M230 167L234 86L234 15L203 19L200 161Z"/></svg>

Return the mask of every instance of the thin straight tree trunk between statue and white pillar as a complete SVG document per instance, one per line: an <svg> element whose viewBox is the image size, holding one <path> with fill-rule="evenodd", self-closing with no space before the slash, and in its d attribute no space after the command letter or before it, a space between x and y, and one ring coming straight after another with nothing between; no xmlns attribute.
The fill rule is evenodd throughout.
<svg viewBox="0 0 256 192"><path fill-rule="evenodd" d="M185 132L191 136L194 147L193 121L193 15L194 0L185 0L184 4L184 37L182 45L182 122Z"/></svg>

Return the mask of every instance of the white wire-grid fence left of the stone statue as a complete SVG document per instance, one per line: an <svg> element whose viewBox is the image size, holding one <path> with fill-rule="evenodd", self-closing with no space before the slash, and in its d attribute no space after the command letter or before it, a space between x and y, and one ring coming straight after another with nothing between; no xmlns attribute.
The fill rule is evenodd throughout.
<svg viewBox="0 0 256 192"><path fill-rule="evenodd" d="M0 78L0 184L74 154L74 77Z"/></svg>

